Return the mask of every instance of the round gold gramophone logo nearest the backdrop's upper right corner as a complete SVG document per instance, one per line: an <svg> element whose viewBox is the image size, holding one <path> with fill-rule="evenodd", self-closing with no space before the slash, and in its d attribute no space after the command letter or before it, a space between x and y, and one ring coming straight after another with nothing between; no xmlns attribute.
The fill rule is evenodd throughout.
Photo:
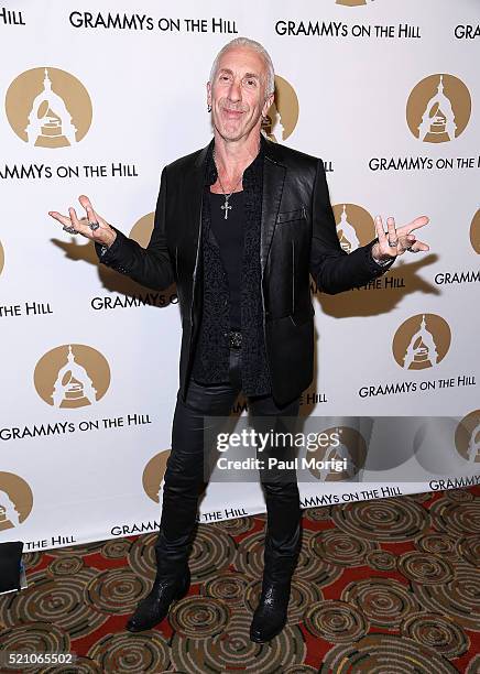
<svg viewBox="0 0 480 674"><path fill-rule="evenodd" d="M438 73L422 79L406 104L406 121L418 140L445 143L458 138L470 119L471 97L454 75Z"/></svg>

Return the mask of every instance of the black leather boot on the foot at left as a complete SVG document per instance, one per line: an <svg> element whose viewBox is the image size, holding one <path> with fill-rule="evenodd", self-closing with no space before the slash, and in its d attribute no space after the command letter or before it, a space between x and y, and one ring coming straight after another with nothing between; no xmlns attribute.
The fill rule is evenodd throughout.
<svg viewBox="0 0 480 674"><path fill-rule="evenodd" d="M159 535L162 544L163 534ZM189 546L184 546L175 554L164 554L161 547L155 548L156 577L153 588L140 601L135 612L127 622L130 632L150 630L167 616L173 601L182 599L190 587L190 570L187 558Z"/></svg>

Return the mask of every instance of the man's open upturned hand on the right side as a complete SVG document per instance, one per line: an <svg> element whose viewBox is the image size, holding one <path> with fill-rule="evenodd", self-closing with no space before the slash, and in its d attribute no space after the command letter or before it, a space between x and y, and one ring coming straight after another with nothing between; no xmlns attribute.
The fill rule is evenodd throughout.
<svg viewBox="0 0 480 674"><path fill-rule="evenodd" d="M388 231L383 229L382 217L377 216L375 229L378 241L372 246L372 257L375 262L385 262L397 256L403 256L407 250L408 252L419 252L421 250L429 250L429 246L423 241L418 241L415 235L411 233L418 227L424 227L429 221L427 216L421 216L404 225L399 229L395 228L395 219L388 218L386 227Z"/></svg>

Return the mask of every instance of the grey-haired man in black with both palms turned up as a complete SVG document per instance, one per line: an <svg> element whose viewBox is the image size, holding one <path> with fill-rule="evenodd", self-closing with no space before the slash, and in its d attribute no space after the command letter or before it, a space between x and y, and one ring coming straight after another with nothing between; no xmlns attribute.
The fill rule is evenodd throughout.
<svg viewBox="0 0 480 674"><path fill-rule="evenodd" d="M110 226L80 196L86 218L50 215L96 242L100 260L149 287L176 282L183 337L179 391L155 544L157 574L128 629L150 629L189 587L188 553L203 486L203 420L228 415L240 390L255 417L296 416L313 378L309 273L338 293L382 274L405 250L428 246L412 230L428 218L347 254L340 247L323 162L261 134L273 102L271 58L239 37L218 54L207 84L214 139L162 172L146 249ZM270 476L272 477L272 476ZM284 627L301 544L296 476L261 474L268 530L259 606L250 637L265 642Z"/></svg>

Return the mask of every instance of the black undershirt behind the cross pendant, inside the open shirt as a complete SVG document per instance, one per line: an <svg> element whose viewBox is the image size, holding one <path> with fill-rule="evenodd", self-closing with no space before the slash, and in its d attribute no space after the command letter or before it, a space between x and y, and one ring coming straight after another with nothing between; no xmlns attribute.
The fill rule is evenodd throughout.
<svg viewBox="0 0 480 674"><path fill-rule="evenodd" d="M222 194L210 192L211 230L220 248L220 258L227 272L230 290L230 329L241 329L241 271L243 256L244 192L229 198L231 210L225 219Z"/></svg>

